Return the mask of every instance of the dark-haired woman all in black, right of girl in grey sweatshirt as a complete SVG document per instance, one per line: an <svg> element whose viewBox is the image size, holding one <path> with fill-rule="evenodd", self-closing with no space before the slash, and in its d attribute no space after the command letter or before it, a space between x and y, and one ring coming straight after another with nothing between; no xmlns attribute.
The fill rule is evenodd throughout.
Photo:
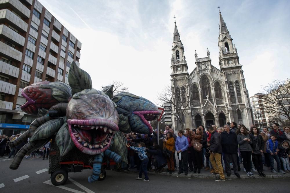
<svg viewBox="0 0 290 193"><path fill-rule="evenodd" d="M261 135L258 133L257 127L251 128L251 134L250 134L251 140L253 143L251 144L253 150L252 150L252 161L253 164L258 170L259 176L265 177L266 175L263 172L263 161L262 161L262 153L264 150L264 140Z"/></svg>

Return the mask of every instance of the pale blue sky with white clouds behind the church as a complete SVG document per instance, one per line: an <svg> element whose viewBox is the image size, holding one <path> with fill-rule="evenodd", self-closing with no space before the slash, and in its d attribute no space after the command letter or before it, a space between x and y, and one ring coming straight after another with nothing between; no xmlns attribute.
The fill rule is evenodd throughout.
<svg viewBox="0 0 290 193"><path fill-rule="evenodd" d="M211 53L218 65L219 10L238 49L249 95L289 78L290 1L39 0L81 43L80 67L93 88L114 80L159 104L171 85L174 16L188 72Z"/></svg>

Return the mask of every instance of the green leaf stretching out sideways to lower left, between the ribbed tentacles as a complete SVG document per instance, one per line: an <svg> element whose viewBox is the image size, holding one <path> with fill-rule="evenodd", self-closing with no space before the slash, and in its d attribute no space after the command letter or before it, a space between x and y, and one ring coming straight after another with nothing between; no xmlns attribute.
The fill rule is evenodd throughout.
<svg viewBox="0 0 290 193"><path fill-rule="evenodd" d="M33 133L33 135L30 137L29 141L39 140L39 139L45 139L48 137L51 137L55 134L61 127L61 125L64 124L64 118L57 118L49 120L48 122L42 124L37 128L37 130Z"/></svg>

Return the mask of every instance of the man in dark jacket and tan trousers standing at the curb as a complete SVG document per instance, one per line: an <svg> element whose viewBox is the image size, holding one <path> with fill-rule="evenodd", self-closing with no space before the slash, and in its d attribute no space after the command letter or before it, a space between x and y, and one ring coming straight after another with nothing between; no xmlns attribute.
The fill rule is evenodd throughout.
<svg viewBox="0 0 290 193"><path fill-rule="evenodd" d="M211 153L209 159L211 160L211 164L213 165L214 172L212 174L220 175L220 178L215 179L217 182L226 181L224 177L224 170L222 168L222 146L220 144L220 134L212 127L208 127L209 133L211 133L210 140L210 150Z"/></svg>

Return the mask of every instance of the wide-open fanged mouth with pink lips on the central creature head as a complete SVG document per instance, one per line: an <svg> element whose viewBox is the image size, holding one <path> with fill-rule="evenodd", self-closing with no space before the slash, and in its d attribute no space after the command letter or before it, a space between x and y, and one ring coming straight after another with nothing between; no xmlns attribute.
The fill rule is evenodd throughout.
<svg viewBox="0 0 290 193"><path fill-rule="evenodd" d="M96 155L110 146L113 135L119 131L117 124L106 119L68 119L70 137L81 152Z"/></svg>

